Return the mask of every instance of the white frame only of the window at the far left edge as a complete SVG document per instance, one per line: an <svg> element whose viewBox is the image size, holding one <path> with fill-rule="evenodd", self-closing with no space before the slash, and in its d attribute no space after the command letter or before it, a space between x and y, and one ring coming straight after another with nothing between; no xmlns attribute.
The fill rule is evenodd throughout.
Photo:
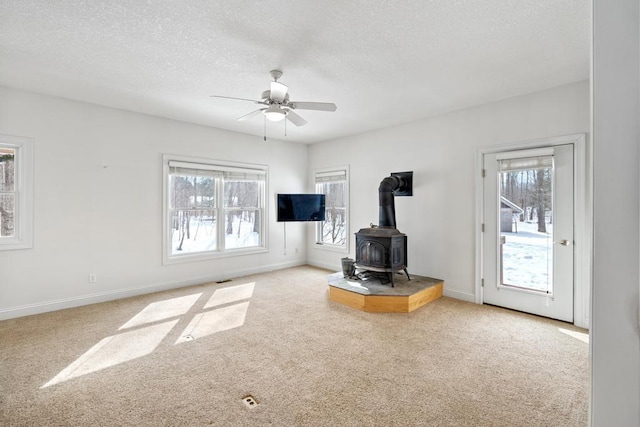
<svg viewBox="0 0 640 427"><path fill-rule="evenodd" d="M0 251L33 248L33 140L0 135L0 147L15 150L14 235L0 237Z"/></svg>

